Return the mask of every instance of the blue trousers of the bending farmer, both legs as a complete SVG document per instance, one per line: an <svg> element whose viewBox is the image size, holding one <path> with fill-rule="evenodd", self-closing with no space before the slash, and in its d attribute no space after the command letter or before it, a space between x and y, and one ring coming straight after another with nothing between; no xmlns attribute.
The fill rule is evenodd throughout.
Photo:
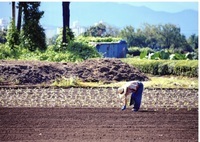
<svg viewBox="0 0 200 142"><path fill-rule="evenodd" d="M141 82L138 82L139 88L136 92L131 94L130 106L134 105L134 111L138 111L140 109L141 101L142 101L142 92L144 85Z"/></svg>

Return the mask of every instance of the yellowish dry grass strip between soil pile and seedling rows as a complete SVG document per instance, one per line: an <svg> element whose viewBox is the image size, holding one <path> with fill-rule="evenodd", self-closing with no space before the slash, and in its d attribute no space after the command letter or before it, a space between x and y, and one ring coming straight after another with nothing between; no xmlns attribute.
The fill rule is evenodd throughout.
<svg viewBox="0 0 200 142"><path fill-rule="evenodd" d="M189 78L182 76L150 76L150 81L144 81L145 88L185 88L185 89L198 89L198 78ZM66 83L70 80L73 82ZM77 83L76 83L77 82ZM110 84L105 84L103 82L81 82L77 78L61 79L53 83L53 86L67 87L67 86L77 86L77 87L119 87L125 81L115 82Z"/></svg>

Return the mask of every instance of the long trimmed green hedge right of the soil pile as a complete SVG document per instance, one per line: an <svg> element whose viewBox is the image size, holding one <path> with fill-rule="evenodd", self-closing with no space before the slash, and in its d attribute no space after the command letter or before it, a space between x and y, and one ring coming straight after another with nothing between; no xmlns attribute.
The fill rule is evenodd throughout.
<svg viewBox="0 0 200 142"><path fill-rule="evenodd" d="M182 75L198 77L198 60L145 60L126 58L122 59L144 73L153 75Z"/></svg>

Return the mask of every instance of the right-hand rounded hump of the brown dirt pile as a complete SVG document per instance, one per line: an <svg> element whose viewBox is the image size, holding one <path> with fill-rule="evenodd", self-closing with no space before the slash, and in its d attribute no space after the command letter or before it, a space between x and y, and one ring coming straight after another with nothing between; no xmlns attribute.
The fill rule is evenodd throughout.
<svg viewBox="0 0 200 142"><path fill-rule="evenodd" d="M123 63L118 59L86 60L77 64L74 68L75 74L85 81L144 81L148 78L137 68Z"/></svg>

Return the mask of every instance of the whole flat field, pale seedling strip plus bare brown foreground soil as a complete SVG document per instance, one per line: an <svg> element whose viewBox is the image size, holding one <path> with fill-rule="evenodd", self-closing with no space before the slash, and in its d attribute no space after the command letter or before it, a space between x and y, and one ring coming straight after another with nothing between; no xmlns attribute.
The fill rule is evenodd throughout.
<svg viewBox="0 0 200 142"><path fill-rule="evenodd" d="M195 89L145 89L136 113L121 111L116 88L1 88L0 94L0 141L198 141Z"/></svg>

